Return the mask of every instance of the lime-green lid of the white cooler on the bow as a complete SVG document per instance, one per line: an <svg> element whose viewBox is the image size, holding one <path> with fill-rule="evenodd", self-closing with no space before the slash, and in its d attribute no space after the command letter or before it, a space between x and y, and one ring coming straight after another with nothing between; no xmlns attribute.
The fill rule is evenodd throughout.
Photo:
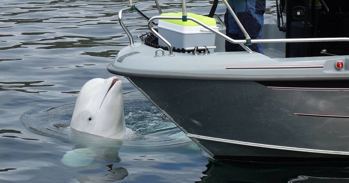
<svg viewBox="0 0 349 183"><path fill-rule="evenodd" d="M182 16L182 12L179 13L163 13L160 16ZM208 17L208 16L202 16L194 13L187 13L187 16L191 16L193 18L196 18L200 20L201 22L205 23L206 25L217 25L216 20L214 18ZM169 20L169 19L161 19L162 21L174 23L177 25L182 26L198 26L199 24L188 20L186 22L183 22L182 20Z"/></svg>

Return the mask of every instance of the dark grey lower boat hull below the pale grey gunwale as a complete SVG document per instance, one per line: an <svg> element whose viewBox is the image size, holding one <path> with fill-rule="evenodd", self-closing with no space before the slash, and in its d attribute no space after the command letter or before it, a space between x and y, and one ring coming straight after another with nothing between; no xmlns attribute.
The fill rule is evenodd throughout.
<svg viewBox="0 0 349 183"><path fill-rule="evenodd" d="M215 159L349 155L347 81L127 78Z"/></svg>

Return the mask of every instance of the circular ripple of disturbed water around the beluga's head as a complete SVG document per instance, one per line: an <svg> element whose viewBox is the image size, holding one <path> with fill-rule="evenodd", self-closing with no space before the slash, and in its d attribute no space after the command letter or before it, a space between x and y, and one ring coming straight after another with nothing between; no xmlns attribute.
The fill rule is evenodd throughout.
<svg viewBox="0 0 349 183"><path fill-rule="evenodd" d="M164 146L191 140L170 120L162 120L161 112L148 99L124 99L126 127L134 134L124 139L109 139L70 129L75 103L33 110L21 120L30 130L46 136L98 143L120 143L129 146Z"/></svg>

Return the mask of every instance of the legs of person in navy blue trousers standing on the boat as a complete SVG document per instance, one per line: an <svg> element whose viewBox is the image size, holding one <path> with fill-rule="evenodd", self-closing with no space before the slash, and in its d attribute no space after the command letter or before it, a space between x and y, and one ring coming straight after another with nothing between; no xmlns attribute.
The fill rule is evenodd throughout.
<svg viewBox="0 0 349 183"><path fill-rule="evenodd" d="M261 39L266 0L228 0L228 3L251 39ZM246 38L228 9L227 13L224 15L224 22L227 25L227 36L232 39ZM254 52L263 54L263 47L261 44L252 44L248 47ZM225 51L237 52L245 51L245 49L239 44L233 44L225 40Z"/></svg>

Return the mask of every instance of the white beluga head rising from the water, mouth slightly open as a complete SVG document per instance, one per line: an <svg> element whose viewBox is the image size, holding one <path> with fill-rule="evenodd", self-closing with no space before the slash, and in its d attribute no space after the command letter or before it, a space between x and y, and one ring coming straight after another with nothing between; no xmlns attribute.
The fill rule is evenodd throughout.
<svg viewBox="0 0 349 183"><path fill-rule="evenodd" d="M94 78L77 96L70 128L107 138L126 134L122 84L117 77Z"/></svg>

